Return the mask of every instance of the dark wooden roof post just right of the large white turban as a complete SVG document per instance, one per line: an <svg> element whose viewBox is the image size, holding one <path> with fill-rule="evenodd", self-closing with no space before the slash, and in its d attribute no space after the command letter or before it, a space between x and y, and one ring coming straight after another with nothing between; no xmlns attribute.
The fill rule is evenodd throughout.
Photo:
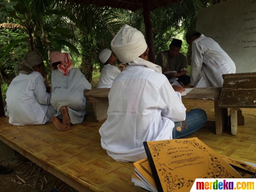
<svg viewBox="0 0 256 192"><path fill-rule="evenodd" d="M145 30L146 30L146 42L149 48L148 58L150 62L154 63L156 58L155 58L155 51L154 51L154 45L153 45L152 24L151 24L151 18L150 18L150 3L148 2L148 0L142 0L142 6L143 6L143 17L144 17Z"/></svg>

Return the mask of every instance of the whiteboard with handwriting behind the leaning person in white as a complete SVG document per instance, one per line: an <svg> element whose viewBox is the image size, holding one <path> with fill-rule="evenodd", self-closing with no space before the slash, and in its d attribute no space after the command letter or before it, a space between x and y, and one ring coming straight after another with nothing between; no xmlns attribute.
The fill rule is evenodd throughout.
<svg viewBox="0 0 256 192"><path fill-rule="evenodd" d="M256 0L230 0L198 10L196 30L210 37L236 64L256 72Z"/></svg>

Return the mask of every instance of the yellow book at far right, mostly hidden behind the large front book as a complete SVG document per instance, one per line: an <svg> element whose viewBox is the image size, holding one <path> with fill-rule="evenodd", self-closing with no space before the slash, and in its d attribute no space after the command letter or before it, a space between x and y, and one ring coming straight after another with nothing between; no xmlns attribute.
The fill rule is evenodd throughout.
<svg viewBox="0 0 256 192"><path fill-rule="evenodd" d="M228 162L228 164L230 164L243 178L252 178L252 176L256 174L256 168L245 162L227 156L221 155L221 157Z"/></svg>

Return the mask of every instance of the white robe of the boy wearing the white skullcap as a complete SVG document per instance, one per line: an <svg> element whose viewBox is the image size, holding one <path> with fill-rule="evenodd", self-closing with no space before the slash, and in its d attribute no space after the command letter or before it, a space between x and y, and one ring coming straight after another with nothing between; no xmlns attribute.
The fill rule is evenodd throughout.
<svg viewBox="0 0 256 192"><path fill-rule="evenodd" d="M111 88L114 79L121 71L114 65L106 64L101 70L97 88Z"/></svg>

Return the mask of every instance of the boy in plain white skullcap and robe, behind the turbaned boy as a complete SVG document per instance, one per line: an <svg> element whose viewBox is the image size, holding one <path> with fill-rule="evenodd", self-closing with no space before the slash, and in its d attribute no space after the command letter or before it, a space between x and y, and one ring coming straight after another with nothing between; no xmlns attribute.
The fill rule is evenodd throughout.
<svg viewBox="0 0 256 192"><path fill-rule="evenodd" d="M104 63L104 67L101 70L97 88L111 88L114 79L121 73L121 71L114 66L116 57L112 51L104 49L100 52L99 59Z"/></svg>

